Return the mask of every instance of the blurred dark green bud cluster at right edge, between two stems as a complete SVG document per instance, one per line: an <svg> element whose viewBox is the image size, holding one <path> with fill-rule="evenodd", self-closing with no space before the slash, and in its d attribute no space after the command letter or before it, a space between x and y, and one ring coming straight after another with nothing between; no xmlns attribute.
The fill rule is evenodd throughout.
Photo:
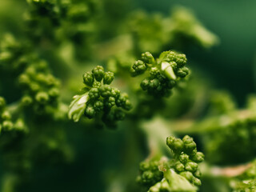
<svg viewBox="0 0 256 192"><path fill-rule="evenodd" d="M255 119L246 118L210 131L205 141L206 156L210 162L218 164L244 162L254 158L255 128Z"/></svg>

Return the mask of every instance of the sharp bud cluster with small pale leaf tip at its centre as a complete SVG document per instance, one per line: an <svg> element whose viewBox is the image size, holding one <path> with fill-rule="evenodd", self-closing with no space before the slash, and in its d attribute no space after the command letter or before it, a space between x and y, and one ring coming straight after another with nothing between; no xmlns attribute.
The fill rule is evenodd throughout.
<svg viewBox="0 0 256 192"><path fill-rule="evenodd" d="M138 76L148 70L148 76L141 82L142 90L146 90L154 96L168 97L170 90L176 86L177 82L189 74L185 65L185 54L165 51L155 60L152 54L146 52L142 54L141 60L134 62L131 74Z"/></svg>

